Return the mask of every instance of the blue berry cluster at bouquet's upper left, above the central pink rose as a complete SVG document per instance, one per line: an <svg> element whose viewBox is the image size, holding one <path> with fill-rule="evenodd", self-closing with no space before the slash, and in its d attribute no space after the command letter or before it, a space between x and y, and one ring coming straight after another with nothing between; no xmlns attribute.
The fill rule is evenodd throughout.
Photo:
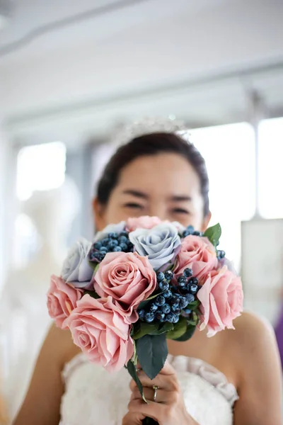
<svg viewBox="0 0 283 425"><path fill-rule="evenodd" d="M109 233L107 237L93 244L88 254L90 261L100 263L108 252L132 252L134 245L129 241L128 232Z"/></svg>

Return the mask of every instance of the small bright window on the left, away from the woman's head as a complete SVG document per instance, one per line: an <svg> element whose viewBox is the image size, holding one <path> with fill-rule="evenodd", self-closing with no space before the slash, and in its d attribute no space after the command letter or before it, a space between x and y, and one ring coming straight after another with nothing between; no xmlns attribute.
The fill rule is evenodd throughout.
<svg viewBox="0 0 283 425"><path fill-rule="evenodd" d="M27 200L33 191L48 191L64 183L66 147L61 142L21 149L17 164L17 196Z"/></svg>

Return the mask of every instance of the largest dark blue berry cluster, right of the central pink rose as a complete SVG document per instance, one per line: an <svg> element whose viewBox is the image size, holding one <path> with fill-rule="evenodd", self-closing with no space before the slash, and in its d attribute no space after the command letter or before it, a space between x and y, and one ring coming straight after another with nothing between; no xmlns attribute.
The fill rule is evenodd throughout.
<svg viewBox="0 0 283 425"><path fill-rule="evenodd" d="M139 319L144 322L170 322L177 323L180 314L191 313L187 306L195 301L195 295L199 290L197 278L192 277L192 269L186 268L183 276L178 277L177 285L173 285L173 271L161 271L157 273L158 288L162 291L147 306L139 310Z"/></svg>

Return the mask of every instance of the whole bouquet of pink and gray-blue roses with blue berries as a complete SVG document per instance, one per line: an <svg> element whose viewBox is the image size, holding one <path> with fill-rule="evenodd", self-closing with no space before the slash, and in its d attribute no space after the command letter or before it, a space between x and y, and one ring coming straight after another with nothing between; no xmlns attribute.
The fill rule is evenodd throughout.
<svg viewBox="0 0 283 425"><path fill-rule="evenodd" d="M241 314L241 279L217 249L220 236L220 225L202 234L158 217L109 225L92 243L76 242L52 276L49 314L90 361L125 366L142 395L137 363L154 379L166 339L186 341L196 327L213 336Z"/></svg>

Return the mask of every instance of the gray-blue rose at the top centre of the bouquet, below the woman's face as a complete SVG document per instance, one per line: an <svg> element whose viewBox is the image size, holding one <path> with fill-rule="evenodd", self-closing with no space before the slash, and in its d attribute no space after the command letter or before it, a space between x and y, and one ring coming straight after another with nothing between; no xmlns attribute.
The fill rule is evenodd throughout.
<svg viewBox="0 0 283 425"><path fill-rule="evenodd" d="M171 223L134 230L129 234L129 240L137 254L148 257L155 271L171 265L181 247L178 229Z"/></svg>

